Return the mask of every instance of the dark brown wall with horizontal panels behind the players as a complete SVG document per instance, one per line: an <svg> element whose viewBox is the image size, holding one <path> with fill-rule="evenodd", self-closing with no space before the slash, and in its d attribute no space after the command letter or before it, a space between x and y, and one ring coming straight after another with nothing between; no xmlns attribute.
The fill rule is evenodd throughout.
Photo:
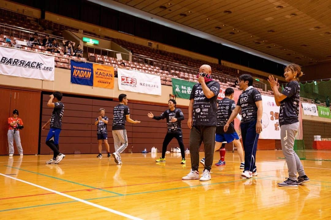
<svg viewBox="0 0 331 220"><path fill-rule="evenodd" d="M52 108L47 107L49 95L42 95L42 125L47 122L52 113ZM148 151L151 148L157 147L159 151L162 149L162 142L166 135L166 120L156 121L147 117L148 112L154 115L160 115L167 106L134 103L130 101L128 106L130 108L130 117L133 120L141 121L140 124L126 123L126 130L128 136L128 147L125 152L141 152L144 148ZM98 117L99 108L106 109L106 116L109 118L108 122L108 142L110 144L111 152L114 151L114 141L111 132L113 122L113 108L118 104L118 101L100 100L93 98L69 97L64 96L62 99L65 104L65 111L63 117L63 126L60 134L60 150L63 153L73 154L74 151L81 153L97 153L97 134L96 126L94 125L95 118ZM187 122L187 109L182 108L185 116L183 124L183 140L185 149L188 147L189 129ZM41 154L50 154L51 150L45 144L45 139L48 129L41 131ZM168 145L168 150L171 147L177 147L176 139L173 139ZM103 150L105 148L103 147ZM202 148L203 149L203 148Z"/></svg>

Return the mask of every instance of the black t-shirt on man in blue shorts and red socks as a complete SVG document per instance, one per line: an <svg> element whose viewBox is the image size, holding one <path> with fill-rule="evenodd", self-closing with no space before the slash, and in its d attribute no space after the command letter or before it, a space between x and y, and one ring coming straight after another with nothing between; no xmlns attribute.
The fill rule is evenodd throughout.
<svg viewBox="0 0 331 220"><path fill-rule="evenodd" d="M217 106L217 134L232 134L236 130L234 129L234 120L230 123L230 126L226 132L224 132L224 125L227 120L230 118L230 115L233 109L236 107L236 103L234 100L229 98L223 98L218 102Z"/></svg>

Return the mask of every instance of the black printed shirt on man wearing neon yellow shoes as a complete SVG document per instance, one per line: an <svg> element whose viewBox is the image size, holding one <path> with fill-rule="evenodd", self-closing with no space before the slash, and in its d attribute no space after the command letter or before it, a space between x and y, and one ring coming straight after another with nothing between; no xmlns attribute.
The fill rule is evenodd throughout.
<svg viewBox="0 0 331 220"><path fill-rule="evenodd" d="M170 109L164 111L160 116L153 117L156 120L161 120L166 118L167 132L168 133L182 133L182 123L184 120L184 114L180 108L175 108L171 111ZM176 122L170 122L171 119L176 118Z"/></svg>

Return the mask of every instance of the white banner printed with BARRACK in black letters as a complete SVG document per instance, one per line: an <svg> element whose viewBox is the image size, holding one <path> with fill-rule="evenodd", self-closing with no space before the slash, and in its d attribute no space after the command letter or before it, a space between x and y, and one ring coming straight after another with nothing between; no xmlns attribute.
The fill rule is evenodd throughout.
<svg viewBox="0 0 331 220"><path fill-rule="evenodd" d="M0 74L54 81L54 56L0 47Z"/></svg>

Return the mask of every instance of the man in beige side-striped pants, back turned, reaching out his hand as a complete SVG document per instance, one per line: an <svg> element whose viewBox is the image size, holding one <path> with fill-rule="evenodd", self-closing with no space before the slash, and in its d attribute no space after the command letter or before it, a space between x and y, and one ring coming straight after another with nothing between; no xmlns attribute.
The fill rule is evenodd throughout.
<svg viewBox="0 0 331 220"><path fill-rule="evenodd" d="M113 125L112 133L114 138L115 152L112 154L117 165L122 164L120 153L127 147L127 136L125 129L125 122L128 121L133 124L140 123L140 121L130 119L130 109L127 106L126 94L119 94L119 104L113 110Z"/></svg>

